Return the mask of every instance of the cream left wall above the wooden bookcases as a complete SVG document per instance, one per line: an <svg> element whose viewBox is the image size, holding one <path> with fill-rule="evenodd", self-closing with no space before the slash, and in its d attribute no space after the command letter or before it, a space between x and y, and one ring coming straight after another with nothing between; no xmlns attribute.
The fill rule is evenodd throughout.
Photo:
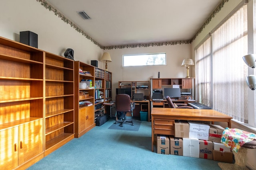
<svg viewBox="0 0 256 170"><path fill-rule="evenodd" d="M6 0L0 5L0 36L20 41L20 31L38 34L38 49L64 56L67 48L74 50L74 59L90 64L99 60L102 49L64 23L36 0ZM99 61L99 68L104 63Z"/></svg>

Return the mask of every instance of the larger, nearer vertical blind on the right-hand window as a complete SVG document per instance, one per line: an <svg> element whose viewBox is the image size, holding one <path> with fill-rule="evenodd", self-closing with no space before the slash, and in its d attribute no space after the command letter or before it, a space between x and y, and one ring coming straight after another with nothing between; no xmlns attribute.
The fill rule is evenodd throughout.
<svg viewBox="0 0 256 170"><path fill-rule="evenodd" d="M213 33L213 108L248 123L247 5Z"/></svg>

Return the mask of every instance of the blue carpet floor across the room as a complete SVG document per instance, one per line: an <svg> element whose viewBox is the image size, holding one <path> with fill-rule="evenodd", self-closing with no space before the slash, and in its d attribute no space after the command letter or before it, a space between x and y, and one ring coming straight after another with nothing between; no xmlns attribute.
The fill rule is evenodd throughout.
<svg viewBox="0 0 256 170"><path fill-rule="evenodd" d="M55 150L28 170L221 170L214 160L151 151L151 122L138 131L108 129L109 119ZM131 126L125 124L124 126Z"/></svg>

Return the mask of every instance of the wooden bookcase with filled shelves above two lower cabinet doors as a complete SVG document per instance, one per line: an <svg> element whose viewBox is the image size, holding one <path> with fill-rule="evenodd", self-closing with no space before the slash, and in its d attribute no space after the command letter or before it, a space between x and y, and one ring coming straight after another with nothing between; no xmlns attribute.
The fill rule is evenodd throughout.
<svg viewBox="0 0 256 170"><path fill-rule="evenodd" d="M80 73L79 70L83 73ZM75 61L75 137L81 137L95 127L94 123L94 66ZM87 87L80 88L79 83L85 80ZM83 81L82 81L83 82ZM92 83L90 85L89 83ZM84 92L85 96L80 96ZM83 106L80 102L90 102L92 106ZM82 106L82 107L80 107Z"/></svg>

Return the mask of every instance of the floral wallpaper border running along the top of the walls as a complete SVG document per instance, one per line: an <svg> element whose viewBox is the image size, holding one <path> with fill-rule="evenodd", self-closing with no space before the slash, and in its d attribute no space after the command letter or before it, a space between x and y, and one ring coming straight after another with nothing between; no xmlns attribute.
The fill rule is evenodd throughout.
<svg viewBox="0 0 256 170"><path fill-rule="evenodd" d="M163 45L177 45L177 44L190 44L192 41L196 39L196 37L202 32L202 30L210 23L212 18L220 12L221 8L223 8L224 4L228 2L228 0L222 0L222 2L215 8L215 10L212 12L212 14L207 18L205 23L202 25L202 27L197 31L197 33L194 35L194 37L191 40L187 41L169 41L169 42L159 42L159 43L143 43L143 44L130 44L130 45L114 45L114 46L102 46L99 43L97 43L92 37L90 37L87 33L85 33L82 29L80 29L76 24L74 24L72 21L68 20L61 12L59 12L56 8L51 6L46 0L36 0L37 2L40 2L44 8L48 9L49 11L54 12L56 16L61 18L62 21L65 23L70 24L71 27L76 29L79 33L81 33L84 37L92 41L95 45L100 47L103 50L111 50L111 49L124 49L124 48L136 48L136 47L154 47L154 46L163 46Z"/></svg>

